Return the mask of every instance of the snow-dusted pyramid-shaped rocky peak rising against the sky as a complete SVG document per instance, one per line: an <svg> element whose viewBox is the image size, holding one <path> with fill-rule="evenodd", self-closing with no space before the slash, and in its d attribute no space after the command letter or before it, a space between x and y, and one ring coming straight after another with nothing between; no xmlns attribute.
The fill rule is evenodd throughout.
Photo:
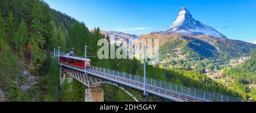
<svg viewBox="0 0 256 113"><path fill-rule="evenodd" d="M213 37L224 37L222 33L216 31L209 25L205 25L200 21L192 18L191 13L184 7L181 7L176 20L172 23L167 32L189 34L189 35L208 35Z"/></svg>

